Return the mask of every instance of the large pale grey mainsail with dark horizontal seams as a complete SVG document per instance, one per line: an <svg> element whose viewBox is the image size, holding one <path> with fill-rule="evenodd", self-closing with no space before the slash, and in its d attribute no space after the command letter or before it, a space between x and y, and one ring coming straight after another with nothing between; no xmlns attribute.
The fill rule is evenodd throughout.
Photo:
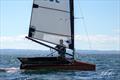
<svg viewBox="0 0 120 80"><path fill-rule="evenodd" d="M28 37L73 49L72 0L34 0Z"/></svg>

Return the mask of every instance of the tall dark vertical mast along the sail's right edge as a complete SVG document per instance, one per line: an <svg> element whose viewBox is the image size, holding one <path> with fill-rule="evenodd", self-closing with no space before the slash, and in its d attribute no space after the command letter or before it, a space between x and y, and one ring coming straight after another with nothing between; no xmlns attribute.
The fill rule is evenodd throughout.
<svg viewBox="0 0 120 80"><path fill-rule="evenodd" d="M71 49L73 50L73 59L75 55L74 49L74 0L70 0L70 24L71 24Z"/></svg>

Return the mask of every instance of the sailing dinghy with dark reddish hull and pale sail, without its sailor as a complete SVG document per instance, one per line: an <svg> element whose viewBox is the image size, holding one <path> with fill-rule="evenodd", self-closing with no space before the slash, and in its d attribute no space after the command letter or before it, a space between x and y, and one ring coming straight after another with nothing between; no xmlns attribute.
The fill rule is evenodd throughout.
<svg viewBox="0 0 120 80"><path fill-rule="evenodd" d="M94 64L74 59L74 0L34 0L26 38L60 53L64 52L47 43L59 45L59 41L63 40L65 48L71 49L72 54L65 52L71 58L19 57L20 69L88 71L96 68Z"/></svg>

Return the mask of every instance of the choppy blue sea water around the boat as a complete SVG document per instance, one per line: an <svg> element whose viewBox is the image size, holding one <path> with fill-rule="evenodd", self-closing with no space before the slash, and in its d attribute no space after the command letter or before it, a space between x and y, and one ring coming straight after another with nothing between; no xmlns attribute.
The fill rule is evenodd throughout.
<svg viewBox="0 0 120 80"><path fill-rule="evenodd" d="M18 56L38 56L45 51L0 51L0 80L120 80L120 54L86 54L80 52L81 61L96 64L96 71L22 71Z"/></svg>

